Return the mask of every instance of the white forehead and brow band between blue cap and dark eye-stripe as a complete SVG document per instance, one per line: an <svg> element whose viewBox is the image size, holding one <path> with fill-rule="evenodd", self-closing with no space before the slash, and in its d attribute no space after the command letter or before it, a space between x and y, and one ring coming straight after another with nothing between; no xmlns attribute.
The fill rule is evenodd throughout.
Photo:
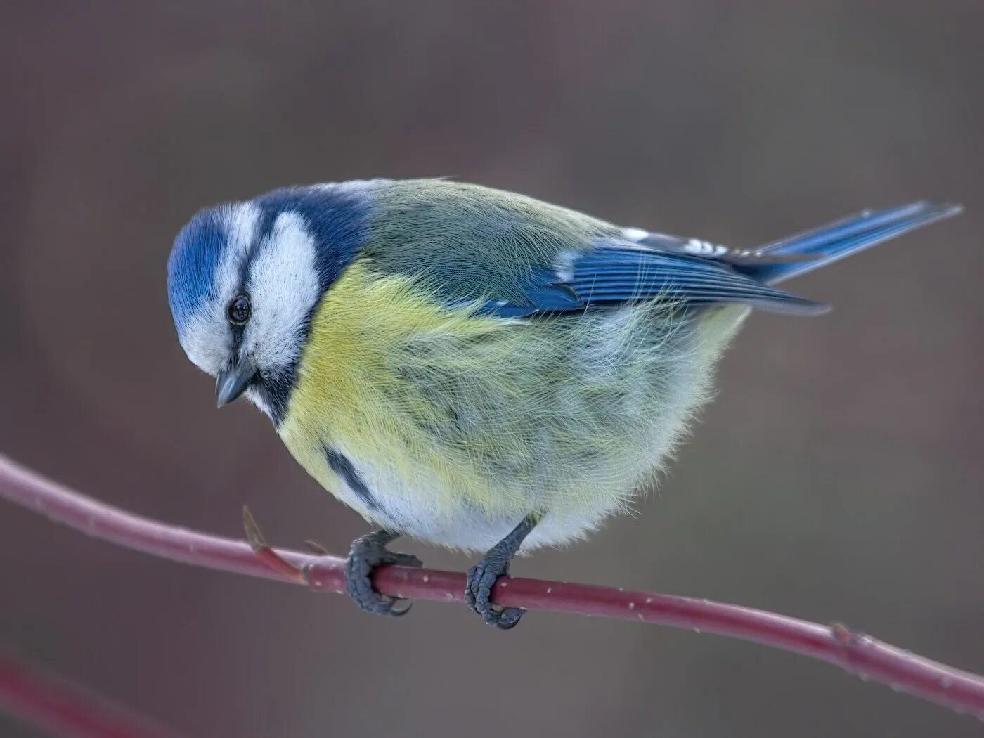
<svg viewBox="0 0 984 738"><path fill-rule="evenodd" d="M226 248L215 268L212 293L188 320L179 337L181 347L199 369L215 376L231 350L225 306L239 286L243 262L260 221L260 210L250 203L230 206L221 214Z"/></svg>

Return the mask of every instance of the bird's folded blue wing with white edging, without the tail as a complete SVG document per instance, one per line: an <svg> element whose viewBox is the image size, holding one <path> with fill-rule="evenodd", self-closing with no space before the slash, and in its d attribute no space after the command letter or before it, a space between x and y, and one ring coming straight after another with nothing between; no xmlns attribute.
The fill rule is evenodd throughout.
<svg viewBox="0 0 984 738"><path fill-rule="evenodd" d="M520 318L651 299L686 307L737 303L783 313L828 310L823 303L739 274L724 261L628 240L599 241L584 252L562 252L552 268L530 272L523 293L522 301L488 301L480 312Z"/></svg>

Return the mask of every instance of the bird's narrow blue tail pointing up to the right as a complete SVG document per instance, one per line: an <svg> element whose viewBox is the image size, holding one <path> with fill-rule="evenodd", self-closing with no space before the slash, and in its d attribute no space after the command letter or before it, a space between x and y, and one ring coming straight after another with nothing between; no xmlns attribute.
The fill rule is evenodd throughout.
<svg viewBox="0 0 984 738"><path fill-rule="evenodd" d="M737 269L769 284L826 267L848 254L888 241L907 231L958 214L958 205L925 201L884 211L864 211L756 249L770 255L813 256L813 259L772 264L745 264ZM768 260L768 256L766 257Z"/></svg>

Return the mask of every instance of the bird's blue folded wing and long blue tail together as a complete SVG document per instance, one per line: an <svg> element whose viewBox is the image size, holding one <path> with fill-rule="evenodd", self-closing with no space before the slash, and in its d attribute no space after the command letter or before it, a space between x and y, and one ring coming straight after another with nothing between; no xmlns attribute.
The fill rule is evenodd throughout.
<svg viewBox="0 0 984 738"><path fill-rule="evenodd" d="M823 313L829 309L824 303L771 284L959 212L959 206L928 202L865 211L757 249L626 228L622 239L562 252L552 269L531 271L523 284L525 299L489 301L481 312L524 317L663 299L687 307L734 303L781 313Z"/></svg>

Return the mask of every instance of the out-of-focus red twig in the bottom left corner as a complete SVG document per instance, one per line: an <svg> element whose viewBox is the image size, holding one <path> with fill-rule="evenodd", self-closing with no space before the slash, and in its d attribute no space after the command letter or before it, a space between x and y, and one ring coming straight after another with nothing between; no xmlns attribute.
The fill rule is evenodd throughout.
<svg viewBox="0 0 984 738"><path fill-rule="evenodd" d="M2 650L0 710L59 738L180 738L127 707Z"/></svg>

